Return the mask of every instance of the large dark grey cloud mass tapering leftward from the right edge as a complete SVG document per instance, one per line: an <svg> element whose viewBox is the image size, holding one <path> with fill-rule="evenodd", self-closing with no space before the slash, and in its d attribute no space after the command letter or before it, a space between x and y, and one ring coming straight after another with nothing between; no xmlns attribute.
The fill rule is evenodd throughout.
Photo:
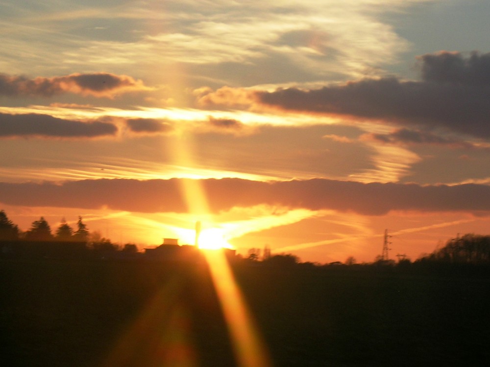
<svg viewBox="0 0 490 367"><path fill-rule="evenodd" d="M490 53L427 54L421 81L366 79L319 90L256 92L260 104L286 110L377 118L402 125L445 127L490 138Z"/></svg>

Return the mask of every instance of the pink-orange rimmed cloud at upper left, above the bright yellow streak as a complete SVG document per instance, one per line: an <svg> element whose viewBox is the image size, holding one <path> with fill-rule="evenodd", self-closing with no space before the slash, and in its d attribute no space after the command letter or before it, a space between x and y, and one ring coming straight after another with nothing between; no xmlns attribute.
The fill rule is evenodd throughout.
<svg viewBox="0 0 490 367"><path fill-rule="evenodd" d="M0 95L7 96L41 96L70 92L95 97L113 98L117 94L148 90L141 80L127 75L111 73L74 73L52 78L10 76L0 74Z"/></svg>

